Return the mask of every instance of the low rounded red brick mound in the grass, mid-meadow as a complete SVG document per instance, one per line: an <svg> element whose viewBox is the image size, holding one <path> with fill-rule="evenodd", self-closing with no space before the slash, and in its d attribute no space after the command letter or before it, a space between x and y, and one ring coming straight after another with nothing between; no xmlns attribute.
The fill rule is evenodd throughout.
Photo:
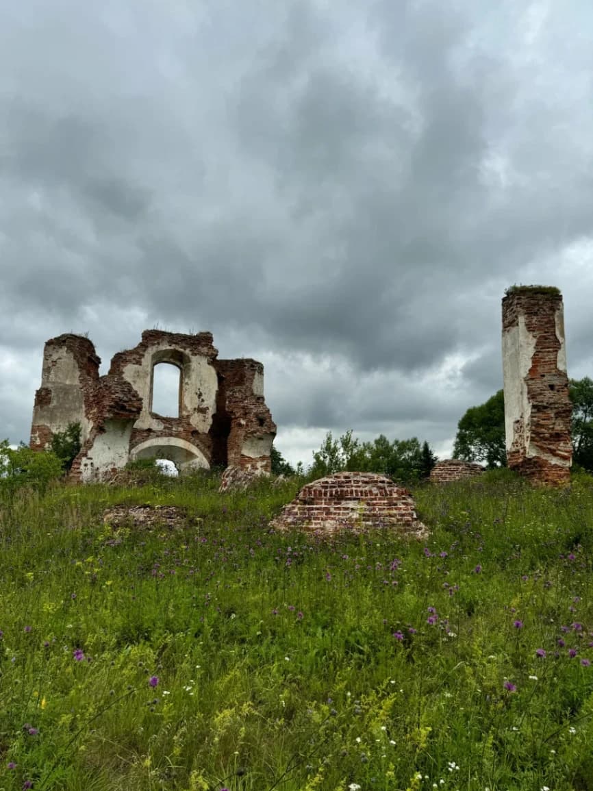
<svg viewBox="0 0 593 791"><path fill-rule="evenodd" d="M414 538L427 533L410 492L371 472L338 472L308 483L272 526L328 535L368 528L394 528Z"/></svg>

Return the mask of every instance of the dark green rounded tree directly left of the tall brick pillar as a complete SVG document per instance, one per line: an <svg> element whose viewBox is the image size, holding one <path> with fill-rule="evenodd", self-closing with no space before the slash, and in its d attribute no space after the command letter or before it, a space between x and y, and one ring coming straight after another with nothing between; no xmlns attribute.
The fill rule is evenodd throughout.
<svg viewBox="0 0 593 791"><path fill-rule="evenodd" d="M453 456L464 461L485 461L488 467L506 466L502 390L463 415L457 424Z"/></svg>

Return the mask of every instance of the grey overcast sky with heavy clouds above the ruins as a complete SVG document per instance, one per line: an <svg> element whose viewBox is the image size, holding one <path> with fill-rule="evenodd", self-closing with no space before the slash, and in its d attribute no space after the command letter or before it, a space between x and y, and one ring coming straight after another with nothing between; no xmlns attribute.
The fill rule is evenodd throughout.
<svg viewBox="0 0 593 791"><path fill-rule="evenodd" d="M590 0L0 0L0 438L43 343L210 330L277 446L447 456L500 299L561 288L593 376Z"/></svg>

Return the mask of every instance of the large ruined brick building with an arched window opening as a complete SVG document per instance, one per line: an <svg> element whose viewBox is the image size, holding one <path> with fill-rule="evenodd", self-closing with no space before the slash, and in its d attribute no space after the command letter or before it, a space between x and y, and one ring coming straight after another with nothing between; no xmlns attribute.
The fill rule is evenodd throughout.
<svg viewBox="0 0 593 791"><path fill-rule="evenodd" d="M81 452L71 476L100 480L137 459L168 459L178 469L229 464L270 472L276 426L263 397L263 365L219 360L210 332L147 330L134 349L100 358L89 339L60 335L45 344L36 392L31 448L47 448L55 432L81 425ZM179 369L179 414L152 410L155 365Z"/></svg>

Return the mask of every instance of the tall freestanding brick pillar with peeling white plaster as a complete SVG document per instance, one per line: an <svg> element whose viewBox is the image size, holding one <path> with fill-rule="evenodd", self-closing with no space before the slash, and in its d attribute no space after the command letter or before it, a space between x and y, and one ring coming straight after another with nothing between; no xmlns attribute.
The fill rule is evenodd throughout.
<svg viewBox="0 0 593 791"><path fill-rule="evenodd" d="M562 295L513 286L502 301L508 466L534 483L568 483L572 462Z"/></svg>

